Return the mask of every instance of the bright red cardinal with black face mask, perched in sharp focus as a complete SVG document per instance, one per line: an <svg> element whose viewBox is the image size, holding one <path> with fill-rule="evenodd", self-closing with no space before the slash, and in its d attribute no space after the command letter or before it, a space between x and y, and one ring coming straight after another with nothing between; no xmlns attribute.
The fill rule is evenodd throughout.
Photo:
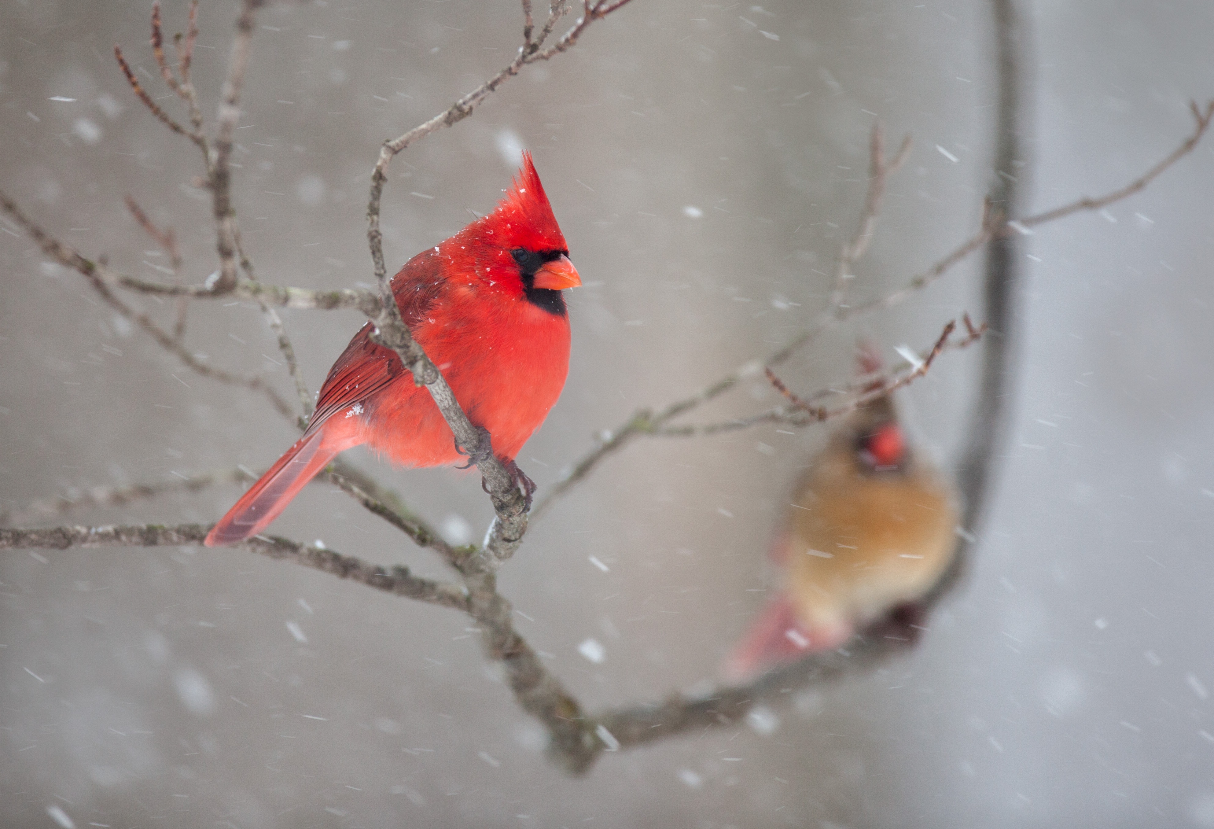
<svg viewBox="0 0 1214 829"><path fill-rule="evenodd" d="M489 215L410 259L392 278L401 317L447 377L494 454L514 458L548 415L569 370L566 288L582 284L531 154ZM368 443L405 466L460 459L430 392L371 324L346 346L304 437L206 535L208 546L262 532L334 455ZM517 472L517 467L514 467ZM521 473L520 473L521 475ZM529 483L529 482L528 482Z"/></svg>

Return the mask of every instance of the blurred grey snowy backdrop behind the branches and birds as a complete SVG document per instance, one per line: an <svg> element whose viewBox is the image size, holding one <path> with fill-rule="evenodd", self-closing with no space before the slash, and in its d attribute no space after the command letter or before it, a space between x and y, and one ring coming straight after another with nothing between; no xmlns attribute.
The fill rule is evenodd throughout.
<svg viewBox="0 0 1214 829"><path fill-rule="evenodd" d="M170 32L183 10L166 2ZM586 282L569 297L565 394L520 459L540 487L594 431L764 353L819 307L821 272L863 194L867 113L917 144L857 293L898 284L972 232L991 172L987 11L635 0L396 161L386 254L403 262L467 208L492 208L512 171L499 151L510 134L535 153ZM121 208L135 194L177 228L197 282L215 259L208 203L189 187L193 148L134 101L109 51L119 41L154 69L147 12L142 0L0 4L0 182L83 251L160 277L148 263L164 259L144 252L154 245ZM1196 1L1037 4L1036 206L1121 186L1186 134L1187 98L1214 95L1212 13ZM231 15L203 4L208 117ZM378 142L509 59L518 10L330 0L259 23L236 154L250 255L280 284L365 282ZM1214 825L1212 171L1206 144L1113 206L1116 223L1083 215L1029 240L1015 425L969 579L913 655L794 695L775 709L773 734L691 736L569 779L453 613L232 551L10 552L5 825L52 825L51 805L78 827ZM926 345L976 307L976 267L823 341L787 379L810 390L846 377L858 334ZM263 398L182 370L25 240L0 233L0 272L5 506L265 466L291 442ZM357 314L284 317L316 390ZM248 303L195 307L189 343L289 391ZM976 356L946 356L903 396L946 464ZM775 399L756 384L702 416ZM710 677L761 602L772 522L822 438L764 427L642 442L609 460L503 572L503 591L534 619L521 631L591 709ZM473 477L353 459L433 519L483 530ZM72 521L211 521L236 495ZM441 573L327 487L305 492L276 532ZM605 646L602 665L578 653L586 637Z"/></svg>

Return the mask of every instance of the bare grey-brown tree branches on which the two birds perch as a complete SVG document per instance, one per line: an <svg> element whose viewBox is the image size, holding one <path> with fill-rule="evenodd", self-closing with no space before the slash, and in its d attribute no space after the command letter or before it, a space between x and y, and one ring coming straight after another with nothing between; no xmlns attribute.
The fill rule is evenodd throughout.
<svg viewBox="0 0 1214 829"><path fill-rule="evenodd" d="M463 445L473 449L480 443L480 436L475 433L475 430L472 430L471 424L464 416L454 398L449 396L449 388L442 381L441 374L429 362L421 350L416 347L412 337L409 337L408 329L399 320L395 302L386 301L391 296L391 290L387 280L387 269L384 263L379 231L379 210L382 188L386 182L387 166L392 158L412 142L433 131L454 125L470 115L480 102L495 91L507 78L517 74L527 63L548 59L572 47L578 36L580 36L591 22L601 19L619 8L625 1L606 2L603 0L590 2L588 0L583 4L582 17L552 42L549 42L549 39L554 35L557 24L568 11L568 5L565 2L552 4L545 22L537 30L531 4L524 1L522 4L524 17L523 45L515 59L497 75L484 81L484 84L469 95L461 97L439 115L382 146L375 171L371 176L371 193L368 203L368 238L379 282L378 291L313 291L266 285L255 279L253 263L244 255L239 226L231 204L229 155L232 152L233 130L239 119L240 91L245 81L249 50L251 49L253 15L257 6L251 0L245 0L239 7L237 33L223 83L222 101L217 113L219 126L214 140L208 138L203 132L202 113L198 108L192 81L189 80L191 56L194 39L197 38L197 2L192 2L189 7L189 29L187 35L177 40L177 72L180 73L180 79L174 75L172 67L168 66L164 59L158 5L153 7L152 18L152 47L160 68L161 78L169 89L185 102L188 110L189 127L174 121L171 117L155 104L154 100L140 86L121 52L117 52L124 74L138 98L158 119L166 123L175 132L187 135L203 151L206 171L203 183L211 194L211 206L216 226L216 250L221 266L212 278L193 285L161 284L136 279L118 273L104 260L95 262L85 259L76 250L63 244L30 221L15 201L2 194L0 194L0 209L47 256L83 274L110 307L127 319L138 323L141 328L153 336L158 345L177 356L188 368L221 382L239 384L260 390L271 398L279 411L293 419L299 413L294 411L285 399L279 397L270 386L265 385L260 377L242 377L205 365L186 350L181 342L185 333L183 317L178 317L177 329L174 334L169 334L152 320L151 317L127 305L123 299L119 299L117 291L124 289L136 294L172 296L178 297L182 302L191 299L238 297L250 299L261 303L267 324L270 324L271 329L278 336L280 350L284 356L291 354L288 357L288 363L296 381L296 392L305 415L308 413L311 402L306 387L297 374L297 363L294 359L290 341L282 327L282 320L272 316L273 312L271 308L277 306L293 308L357 308L362 311L370 319L375 320L385 342L397 351L402 360L414 370L415 376L431 387L431 392L436 396L436 403L443 410L444 416L448 418L448 422L452 424L453 431L459 436ZM1008 217L1019 215L1020 201L1022 200L1022 183L1020 178L1023 176L1023 153L1022 147L1017 142L1023 130L1019 119L1021 117L1020 113L1025 109L1022 102L1023 81L1021 80L1023 67L1026 66L1022 55L1025 35L1021 28L1022 23L1014 15L1010 2L997 0L995 8L1000 78L1000 97L997 108L999 143L995 169L1003 175L998 177L998 183L992 191L989 200L983 206L980 229L951 254L910 279L904 288L868 302L850 306L844 305L843 300L845 299L847 283L855 276L855 266L868 249L875 231L887 176L897 170L909 152L909 142L904 141L901 149L892 158L887 158L880 126L875 126L870 136L868 192L857 222L857 231L838 252L833 290L828 307L816 319L811 320L800 334L764 360L768 368L776 367L787 360L796 350L812 342L828 328L853 319L858 314L897 305L910 294L921 290L943 276L970 252L983 245L988 245L985 280L987 307L985 317L986 323L991 325L991 335L986 337L983 343L985 359L982 379L980 380L980 392L977 394L977 410L972 422L972 437L968 445L961 470L961 488L966 494L966 513L963 522L965 529L963 532L966 533L966 538L972 538L970 533L975 527L982 502L988 492L991 459L1000 439L1002 424L1006 416L1006 381L1010 375L1014 356L1014 350L1010 346L1012 335L1011 320L1014 319L1014 311L1017 302L1014 291L1022 290L1015 288L1022 284L1022 280L1017 278L1014 269L1014 263L1019 259L1015 254L1015 245L1020 243L1025 231L1034 225L1061 218L1079 210L1099 210L1113 200L1138 192L1196 146L1207 130L1212 114L1214 114L1214 108L1210 106L1207 106L1204 109L1195 106L1193 113L1197 124L1193 134L1163 161L1127 187L1099 199L1080 199L1079 201L1044 214L1020 218L1019 221L1009 221ZM147 216L135 205L134 200L129 206L136 221L144 231L166 249L171 248L174 240L171 232L160 231L154 223L147 220ZM170 255L172 256L171 250ZM177 271L180 266L180 257L174 256L174 269ZM244 272L244 279L240 278L239 271ZM898 368L878 377L866 377L863 382L869 385L877 382L881 387L881 393L885 393L890 388L896 387L896 385L903 385L917 376L921 376L930 367L934 357L943 348L949 333L951 329L937 340L936 347L925 352L918 365L912 363L908 368ZM971 327L968 339L963 339L961 342L968 345L980 334L981 328ZM546 509L555 498L585 479L607 454L623 448L637 436L705 435L741 428L754 422L772 422L773 420L783 419L787 419L789 422L800 422L804 425L851 410L856 405L862 404L863 394L867 393L866 388L868 386L845 386L843 391L851 397L838 409L811 405L811 401L836 393L832 390L824 390L815 394L793 396L795 399L793 399L790 407L722 424L709 424L707 426L680 426L671 424L674 419L719 397L725 391L738 385L743 379L758 376L764 370L764 363L748 363L742 369L726 375L694 396L671 403L664 409L657 411L645 409L639 411L620 428L609 435L599 448L583 458L573 467L572 472L558 486L552 488L549 498L538 506L537 512ZM444 388L447 388L446 392L443 391ZM498 516L498 521L494 524L497 535L490 539L488 549L456 547L448 544L427 522L413 515L405 507L402 499L391 489L382 487L370 476L342 462L334 464L328 472L328 479L331 483L339 486L364 507L404 532L418 545L432 549L459 574L460 584L418 579L404 568L388 570L358 558L341 556L323 546L307 546L279 538L259 536L248 541L244 546L261 555L295 561L296 563L341 578L353 579L395 595L450 607L471 615L481 625L480 630L483 634L488 657L500 660L505 665L507 682L520 704L546 727L551 738L554 756L566 767L577 771L588 768L602 750L651 742L693 727L709 727L736 722L738 716L759 700L772 699L776 694L783 693L792 687L813 685L841 672L864 670L875 660L884 659L889 654L908 647L904 640L889 638L880 629L867 630L856 641L850 643L846 649L816 654L798 665L765 675L756 682L742 688L715 691L707 695L675 695L665 702L652 705L625 706L606 711L601 715L586 715L580 710L577 700L563 689L558 680L543 666L531 646L514 630L510 603L497 591L497 566L507 558L518 543L521 543L522 533L526 529L526 509L523 505L523 494L518 492L514 481L510 479L509 473L501 469L501 464L497 459L493 459L492 455L486 459L482 471L495 494L494 507ZM244 471L240 470L239 472L243 473ZM237 472L211 473L209 476L198 476L197 478L185 478L181 483L176 481L152 482L148 484L89 490L79 500L92 506L112 506L125 504L135 498L152 498L158 494L180 492L182 489L193 492L211 483L223 481L236 482L240 479L240 475ZM57 513L62 512L63 509L66 507L58 507L53 502L42 500L30 505L29 511ZM200 524L181 524L176 527L147 524L141 527L2 529L0 530L0 547L177 546L199 543L205 535L206 529L206 527ZM958 561L964 561L964 558L965 555L963 553L958 557ZM932 602L938 601L948 585L953 583L953 578L949 577L937 586L931 598Z"/></svg>

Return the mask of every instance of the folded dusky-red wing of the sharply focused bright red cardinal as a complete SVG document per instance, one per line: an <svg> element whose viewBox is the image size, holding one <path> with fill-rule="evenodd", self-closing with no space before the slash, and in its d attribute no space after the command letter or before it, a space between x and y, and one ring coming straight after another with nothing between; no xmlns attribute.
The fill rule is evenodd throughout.
<svg viewBox="0 0 1214 829"><path fill-rule="evenodd" d="M410 331L416 329L447 285L441 262L433 249L425 250L392 277L392 293ZM367 323L329 369L308 422L308 432L319 428L334 414L365 401L404 373L401 358L392 350L371 342L370 335L371 324Z"/></svg>

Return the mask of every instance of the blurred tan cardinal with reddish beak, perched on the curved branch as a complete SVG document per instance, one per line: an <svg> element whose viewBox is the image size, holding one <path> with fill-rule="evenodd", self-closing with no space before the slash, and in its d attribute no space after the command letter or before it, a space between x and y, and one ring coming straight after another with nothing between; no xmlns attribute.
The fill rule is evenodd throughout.
<svg viewBox="0 0 1214 829"><path fill-rule="evenodd" d="M860 363L863 373L880 368L867 348ZM779 592L726 659L732 681L913 611L953 558L953 489L908 445L887 394L830 436L789 506L772 550L784 567Z"/></svg>

